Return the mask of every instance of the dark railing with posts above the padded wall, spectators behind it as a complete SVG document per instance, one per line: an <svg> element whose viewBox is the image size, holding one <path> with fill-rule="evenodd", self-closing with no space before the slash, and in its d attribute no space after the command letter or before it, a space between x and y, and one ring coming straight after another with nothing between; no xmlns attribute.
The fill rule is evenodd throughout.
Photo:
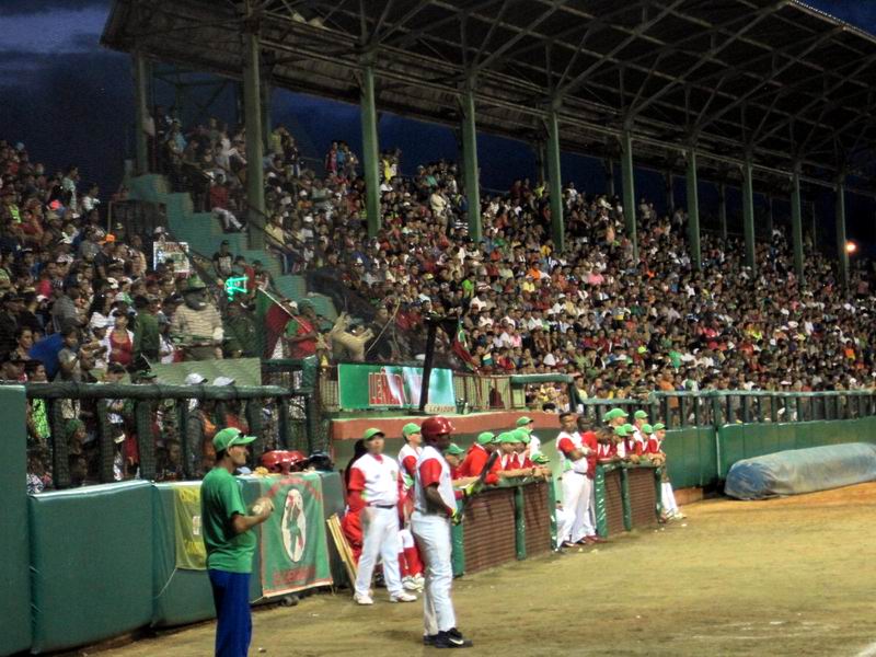
<svg viewBox="0 0 876 657"><path fill-rule="evenodd" d="M48 460L45 465L50 464L54 488L119 481L118 462L130 459L136 468L122 479L161 480L157 447L168 441L182 449L172 479L199 479L207 465L203 461L205 431L209 425L221 427L234 419L256 436L250 463L255 466L264 451L296 446L288 408L293 405L306 413L311 397L309 391L279 385L56 382L24 388L28 451ZM85 425L81 443L71 435L77 420ZM79 454L87 460L88 472L74 481L70 457Z"/></svg>

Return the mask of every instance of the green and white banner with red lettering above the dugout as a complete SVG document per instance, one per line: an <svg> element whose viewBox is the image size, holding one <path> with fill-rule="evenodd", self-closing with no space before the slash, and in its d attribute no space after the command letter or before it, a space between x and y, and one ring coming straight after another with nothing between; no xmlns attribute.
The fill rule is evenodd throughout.
<svg viewBox="0 0 876 657"><path fill-rule="evenodd" d="M338 365L341 408L418 408L423 368L394 365ZM456 413L453 372L434 369L429 377L428 413Z"/></svg>

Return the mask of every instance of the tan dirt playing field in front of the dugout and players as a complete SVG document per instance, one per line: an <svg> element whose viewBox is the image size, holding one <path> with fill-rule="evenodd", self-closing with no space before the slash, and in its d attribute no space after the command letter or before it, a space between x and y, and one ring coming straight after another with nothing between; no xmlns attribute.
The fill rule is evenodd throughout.
<svg viewBox="0 0 876 657"><path fill-rule="evenodd" d="M457 579L465 654L853 656L876 642L876 483L684 510L665 530ZM342 593L256 612L250 654L434 652L419 603ZM206 657L212 636L205 623L102 655Z"/></svg>

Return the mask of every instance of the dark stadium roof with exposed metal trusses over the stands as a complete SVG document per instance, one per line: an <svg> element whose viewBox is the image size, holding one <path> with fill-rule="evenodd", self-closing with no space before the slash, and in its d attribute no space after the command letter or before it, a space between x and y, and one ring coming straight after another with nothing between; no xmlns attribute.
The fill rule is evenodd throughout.
<svg viewBox="0 0 876 657"><path fill-rule="evenodd" d="M876 151L876 38L794 0L115 0L102 43L239 78L243 30L279 88L457 125L475 81L479 130L535 139L558 108L563 148L760 177L858 175Z"/></svg>

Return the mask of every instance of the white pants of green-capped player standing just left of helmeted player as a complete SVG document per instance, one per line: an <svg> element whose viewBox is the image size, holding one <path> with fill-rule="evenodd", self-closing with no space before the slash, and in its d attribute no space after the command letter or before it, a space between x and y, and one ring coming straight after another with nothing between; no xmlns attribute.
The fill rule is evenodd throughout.
<svg viewBox="0 0 876 657"><path fill-rule="evenodd" d="M356 576L356 592L367 596L371 588L377 557L383 562L383 580L391 596L404 592L399 574L399 512L395 507L362 509L362 553Z"/></svg>

